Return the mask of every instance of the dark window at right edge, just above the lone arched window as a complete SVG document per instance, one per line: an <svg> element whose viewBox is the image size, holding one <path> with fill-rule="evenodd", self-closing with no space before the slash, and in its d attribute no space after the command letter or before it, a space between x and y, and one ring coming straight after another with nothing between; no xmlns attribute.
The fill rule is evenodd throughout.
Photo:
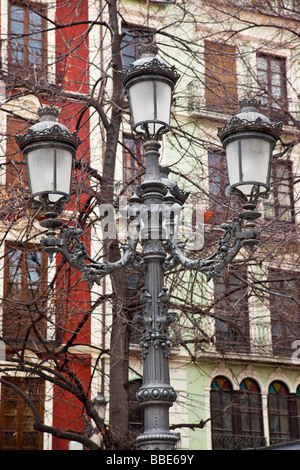
<svg viewBox="0 0 300 470"><path fill-rule="evenodd" d="M300 274L271 269L269 286L273 352L290 356L300 335Z"/></svg>

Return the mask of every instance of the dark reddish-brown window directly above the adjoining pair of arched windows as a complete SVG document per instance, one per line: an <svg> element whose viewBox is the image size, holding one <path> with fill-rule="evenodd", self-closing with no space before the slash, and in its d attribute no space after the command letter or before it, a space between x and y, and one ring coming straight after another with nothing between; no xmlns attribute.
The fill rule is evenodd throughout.
<svg viewBox="0 0 300 470"><path fill-rule="evenodd" d="M247 272L239 267L214 284L215 341L220 352L249 352Z"/></svg>

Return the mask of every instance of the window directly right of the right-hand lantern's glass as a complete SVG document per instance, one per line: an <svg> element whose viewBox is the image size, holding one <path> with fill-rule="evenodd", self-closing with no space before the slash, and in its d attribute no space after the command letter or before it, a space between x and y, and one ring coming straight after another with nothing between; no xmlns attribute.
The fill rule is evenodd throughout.
<svg viewBox="0 0 300 470"><path fill-rule="evenodd" d="M290 229L286 222L295 221L293 174L289 161L276 162L272 168L271 191L265 207L265 217L281 223L281 228Z"/></svg>

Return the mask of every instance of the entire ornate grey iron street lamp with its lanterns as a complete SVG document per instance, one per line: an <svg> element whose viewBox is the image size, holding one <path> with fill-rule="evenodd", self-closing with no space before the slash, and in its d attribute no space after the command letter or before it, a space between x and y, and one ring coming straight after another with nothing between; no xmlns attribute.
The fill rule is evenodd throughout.
<svg viewBox="0 0 300 470"><path fill-rule="evenodd" d="M123 256L116 262L100 263L92 260L80 240L80 230L63 226L60 237L55 236L54 229L58 221L54 216L46 220L47 224L44 226L52 231L42 238L41 243L50 254L61 253L71 266L82 273L89 285L94 282L99 284L104 276L129 265L144 271L141 311L134 318L142 329L143 358L143 384L137 398L144 409L144 432L137 438L137 443L141 450L169 450L175 448L178 439L169 430L169 408L176 400L176 392L170 385L169 376L169 325L176 314L168 310L165 272L181 265L185 269L204 273L207 279L218 278L244 245L252 248L258 242L259 232L253 221L260 214L255 208L258 197L265 195L269 189L272 151L281 127L259 114L254 101L243 101L242 113L219 129L219 136L227 153L230 184L232 190L242 197L244 211L235 219L222 224L224 233L219 238L215 253L206 259L188 258L182 243L177 241L174 227L174 214L176 212L178 215L178 207L182 207L188 194L180 191L166 175L161 176L159 166L159 140L170 126L172 90L178 74L173 67L154 57L154 52L152 46L148 50L144 48L141 59L122 73L129 98L132 128L144 138L146 160L144 181L131 200L131 223L128 241L123 246ZM48 135L48 131L46 133ZM50 131L49 133L51 135ZM48 156L49 160L55 161L53 146L57 146L59 139L53 133L53 138L45 140L44 134L44 131L29 130L28 135L18 139L27 159L31 157L31 147L26 147L26 142L30 143L30 139L33 139L37 148L43 148L45 159ZM59 140L60 145L66 153L74 155L78 145L77 136L65 134L65 130L63 135L65 140L63 139L63 144ZM68 168L69 175L70 159L68 162L64 168ZM28 170L31 171L31 168L29 164ZM56 174L57 181L61 179L61 175L54 170L55 165L50 165L47 161L46 168L49 175L45 175L43 181L47 181L47 184L34 189L32 197L38 196L41 202L44 195L49 201L51 198L56 200L55 194L65 198L65 186L55 186L53 183L53 174ZM39 174L35 170L30 175L32 187L36 187L36 182L32 181L36 177ZM66 179L68 186L69 176ZM137 250L138 243L142 250Z"/></svg>

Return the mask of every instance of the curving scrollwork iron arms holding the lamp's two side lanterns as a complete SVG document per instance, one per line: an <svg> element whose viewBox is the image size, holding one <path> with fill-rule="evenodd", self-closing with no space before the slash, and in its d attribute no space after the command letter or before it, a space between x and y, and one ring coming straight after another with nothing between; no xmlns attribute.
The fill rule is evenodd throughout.
<svg viewBox="0 0 300 470"><path fill-rule="evenodd" d="M98 262L92 259L86 250L85 244L80 240L82 230L62 226L60 238L55 236L55 229L59 226L59 221L55 218L48 218L44 222L44 227L48 228L47 236L41 240L45 251L50 256L60 253L66 261L75 269L82 273L83 279L91 286L94 282L99 284L101 279L114 271L122 270L127 266L134 269L144 269L144 258L156 254L164 258L163 266L165 270L170 270L181 265L188 270L195 270L207 276L210 280L222 275L224 268L233 261L242 246L249 246L251 249L258 243L259 230L255 227L254 220L260 216L254 210L254 205L248 204L247 210L241 212L239 217L221 224L224 233L219 237L215 252L207 258L189 258L184 253L184 244L175 240L173 232L169 233L169 239L156 243L148 240L143 244L143 250L137 256L137 245L139 243L140 225L135 225L135 236L128 239L123 244L123 256L115 262ZM246 221L243 228L243 220ZM164 247L165 246L165 247Z"/></svg>

